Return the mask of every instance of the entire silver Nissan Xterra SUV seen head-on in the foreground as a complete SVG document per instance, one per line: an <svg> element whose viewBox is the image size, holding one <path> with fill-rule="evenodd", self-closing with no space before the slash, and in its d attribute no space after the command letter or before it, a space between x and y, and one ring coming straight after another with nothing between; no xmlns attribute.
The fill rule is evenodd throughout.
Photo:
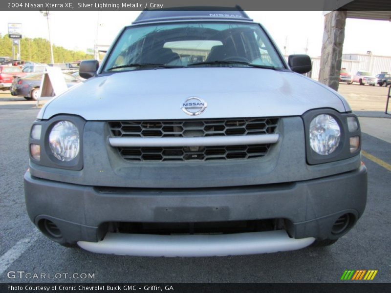
<svg viewBox="0 0 391 293"><path fill-rule="evenodd" d="M241 10L144 11L29 137L29 217L87 251L214 256L325 246L367 198L345 99Z"/></svg>

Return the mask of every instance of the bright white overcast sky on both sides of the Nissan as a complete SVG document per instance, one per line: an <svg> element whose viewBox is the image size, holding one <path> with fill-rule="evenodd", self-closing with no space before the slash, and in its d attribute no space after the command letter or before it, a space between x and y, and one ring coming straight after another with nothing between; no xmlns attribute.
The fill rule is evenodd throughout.
<svg viewBox="0 0 391 293"><path fill-rule="evenodd" d="M86 51L98 44L109 45L122 27L129 25L140 11L51 11L52 42L66 49ZM321 55L324 30L322 11L247 11L260 22L277 43L282 54ZM7 23L22 23L28 38L48 39L47 21L39 11L0 12L0 33L8 33ZM99 24L99 25L98 25ZM344 54L391 56L391 21L347 19ZM308 44L307 44L308 43ZM286 45L286 49L284 46Z"/></svg>

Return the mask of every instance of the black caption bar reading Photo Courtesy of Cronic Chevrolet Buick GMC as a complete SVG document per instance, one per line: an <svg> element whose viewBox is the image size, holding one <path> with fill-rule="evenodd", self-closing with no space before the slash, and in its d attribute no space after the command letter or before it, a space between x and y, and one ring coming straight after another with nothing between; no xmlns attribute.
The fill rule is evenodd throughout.
<svg viewBox="0 0 391 293"><path fill-rule="evenodd" d="M365 282L365 283L364 283ZM339 283L0 283L1 293L385 293L390 283L340 281ZM13 289L9 286L12 286ZM61 290L61 286L70 290ZM86 289L83 289L84 288ZM21 290L15 289L19 287ZM34 288L39 288L34 290ZM11 289L10 289L11 288ZM30 290L31 288L31 290ZM48 290L48 289L49 290Z"/></svg>

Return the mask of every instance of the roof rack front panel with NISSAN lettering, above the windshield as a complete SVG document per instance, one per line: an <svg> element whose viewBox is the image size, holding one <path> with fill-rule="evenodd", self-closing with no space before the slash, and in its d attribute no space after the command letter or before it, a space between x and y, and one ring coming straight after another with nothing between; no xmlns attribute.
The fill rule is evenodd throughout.
<svg viewBox="0 0 391 293"><path fill-rule="evenodd" d="M188 19L225 19L253 21L240 8L235 7L174 7L159 10L144 10L133 24L152 21L188 20Z"/></svg>

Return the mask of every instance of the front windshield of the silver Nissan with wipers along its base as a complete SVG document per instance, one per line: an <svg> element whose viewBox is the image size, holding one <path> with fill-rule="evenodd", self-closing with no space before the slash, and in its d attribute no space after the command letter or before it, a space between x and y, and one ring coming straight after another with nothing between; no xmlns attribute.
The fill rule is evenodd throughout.
<svg viewBox="0 0 391 293"><path fill-rule="evenodd" d="M274 46L254 23L203 22L128 27L104 71L259 65L282 69Z"/></svg>

